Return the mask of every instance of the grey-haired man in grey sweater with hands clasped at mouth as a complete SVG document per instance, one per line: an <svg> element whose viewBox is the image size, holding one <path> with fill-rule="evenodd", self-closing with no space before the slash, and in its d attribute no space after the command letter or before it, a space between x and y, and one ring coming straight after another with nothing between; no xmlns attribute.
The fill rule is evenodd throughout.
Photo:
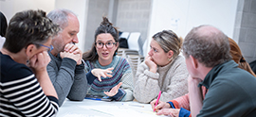
<svg viewBox="0 0 256 117"><path fill-rule="evenodd" d="M52 40L51 61L47 72L59 97L59 106L65 98L82 101L87 91L87 79L82 63L82 51L78 43L79 20L68 9L54 9L47 14L53 23L60 25L61 31Z"/></svg>

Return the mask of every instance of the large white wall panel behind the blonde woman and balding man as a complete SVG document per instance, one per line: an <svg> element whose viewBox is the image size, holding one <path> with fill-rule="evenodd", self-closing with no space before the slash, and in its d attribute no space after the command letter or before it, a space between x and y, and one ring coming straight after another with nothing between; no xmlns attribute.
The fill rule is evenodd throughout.
<svg viewBox="0 0 256 117"><path fill-rule="evenodd" d="M152 1L149 41L156 32L163 29L172 29L178 36L185 38L192 27L198 25L213 25L230 38L233 37L238 0Z"/></svg>

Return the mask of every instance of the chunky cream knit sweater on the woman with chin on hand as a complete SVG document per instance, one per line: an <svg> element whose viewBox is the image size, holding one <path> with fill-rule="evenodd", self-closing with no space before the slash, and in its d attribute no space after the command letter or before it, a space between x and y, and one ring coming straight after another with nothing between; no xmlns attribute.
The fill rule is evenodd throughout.
<svg viewBox="0 0 256 117"><path fill-rule="evenodd" d="M161 91L160 101L167 102L188 93L188 76L185 59L178 56L169 64L157 67L156 73L142 62L134 78L134 96L138 102L150 103Z"/></svg>

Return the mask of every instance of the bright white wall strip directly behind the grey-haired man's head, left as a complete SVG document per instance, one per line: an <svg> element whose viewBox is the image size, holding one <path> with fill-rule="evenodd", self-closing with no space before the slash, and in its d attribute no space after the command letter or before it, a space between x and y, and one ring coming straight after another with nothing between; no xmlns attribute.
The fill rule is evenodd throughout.
<svg viewBox="0 0 256 117"><path fill-rule="evenodd" d="M84 52L85 27L87 20L87 8L89 0L55 0L55 8L67 8L72 10L79 19L80 32L78 33L78 46Z"/></svg>

